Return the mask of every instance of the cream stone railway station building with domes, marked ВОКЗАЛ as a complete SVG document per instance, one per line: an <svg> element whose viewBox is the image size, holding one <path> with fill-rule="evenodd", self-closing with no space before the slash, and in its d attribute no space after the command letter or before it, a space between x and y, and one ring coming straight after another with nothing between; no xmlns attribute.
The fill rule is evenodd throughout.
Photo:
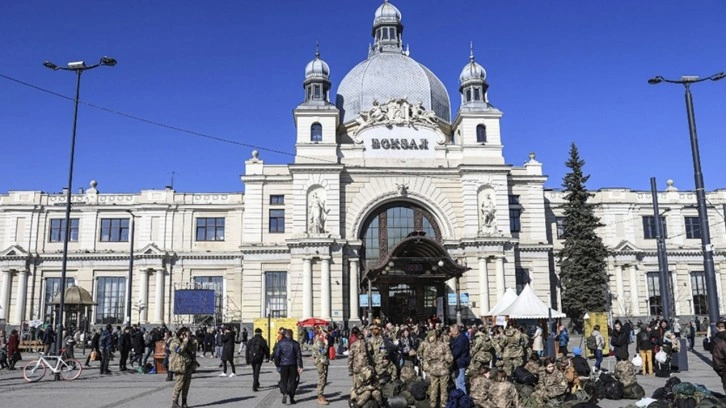
<svg viewBox="0 0 726 408"><path fill-rule="evenodd" d="M462 317L478 318L506 288L530 282L541 299L558 307L556 254L562 240L557 217L563 193L544 188L547 177L534 154L521 166L505 161L502 112L489 104L486 72L473 53L460 77L461 106L449 122L448 94L402 48L401 32L400 13L384 3L376 11L374 45L361 64L421 78L414 84L416 92L387 87L388 78L363 77L353 70L333 104L329 68L316 54L306 68L304 100L293 111L294 162L265 164L252 152L241 177L244 193L189 194L167 188L107 194L92 182L73 194L67 278L98 304L90 308L90 323L120 324L128 314L141 323L181 321L173 313L174 291L192 284L216 289L218 320L250 323L271 310L278 316L357 323L367 313L359 303L367 290L364 277L370 277L376 263L383 274L393 267L390 273L399 273L411 287L418 282L410 265L396 265L400 258L392 254L406 234L424 231L442 250L431 259L417 258L422 279L436 275L445 260L456 265L453 269L468 271L439 282L428 297L419 284L421 298L409 310L420 314L433 307L434 313L453 319L453 305L436 306L446 303L458 286L469 295ZM407 96L421 92L431 97ZM351 98L360 100L345 102ZM341 109L350 106L365 109L343 115ZM676 310L692 314L689 274L702 270L702 263L698 240L685 237L683 217L695 214L695 196L672 185L661 195L661 207L670 208L667 247L676 272ZM714 244L724 248L726 191L708 198L714 206ZM613 311L647 315L647 272L657 271L655 240L643 239L642 216L652 213L650 195L603 189L593 201L605 225L602 237L613 251L608 264ZM57 292L51 283L59 284L61 276L58 227L64 209L64 194L0 194L0 318L11 324L52 318L48 303ZM404 213L408 218L400 215ZM128 282L131 224L133 313L119 286ZM373 237L381 229L386 234ZM720 292L723 250L715 259ZM99 282L107 286L101 290ZM389 289L377 313L387 314L387 308L397 305L393 295L385 296ZM399 294L405 297L405 292Z"/></svg>

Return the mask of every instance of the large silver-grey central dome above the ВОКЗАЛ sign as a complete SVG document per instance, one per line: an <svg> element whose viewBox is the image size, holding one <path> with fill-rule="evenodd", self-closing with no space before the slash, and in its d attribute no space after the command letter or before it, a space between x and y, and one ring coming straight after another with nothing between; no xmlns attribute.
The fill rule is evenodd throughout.
<svg viewBox="0 0 726 408"><path fill-rule="evenodd" d="M340 82L336 105L345 123L370 110L374 100L384 103L392 98L421 102L439 119L451 121L451 103L444 84L428 68L399 53L372 53L356 65Z"/></svg>

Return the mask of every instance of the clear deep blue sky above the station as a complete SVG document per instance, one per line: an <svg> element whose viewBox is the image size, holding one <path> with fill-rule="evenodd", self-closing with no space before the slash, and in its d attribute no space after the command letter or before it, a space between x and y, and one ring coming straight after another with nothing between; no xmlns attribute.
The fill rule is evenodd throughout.
<svg viewBox="0 0 726 408"><path fill-rule="evenodd" d="M71 72L41 63L108 55L86 72L81 100L111 111L294 155L292 109L320 41L333 91L365 59L378 0L14 1L0 13L0 74L72 96ZM683 88L655 75L726 70L726 2L393 1L411 56L446 85L452 115L469 42L504 112L508 163L536 152L559 188L570 142L588 187L693 188ZM707 190L726 188L726 80L694 86ZM0 78L0 193L67 183L72 101ZM251 147L213 141L81 106L73 189L240 191Z"/></svg>

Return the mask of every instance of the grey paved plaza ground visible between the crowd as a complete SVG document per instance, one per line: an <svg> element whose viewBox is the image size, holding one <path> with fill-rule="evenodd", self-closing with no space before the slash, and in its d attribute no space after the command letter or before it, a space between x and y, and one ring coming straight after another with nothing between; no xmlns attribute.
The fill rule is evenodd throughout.
<svg viewBox="0 0 726 408"><path fill-rule="evenodd" d="M579 339L573 339L571 346L577 345ZM631 345L631 356L634 353ZM81 356L80 350L76 353ZM33 355L24 354L24 361L18 367L29 361ZM703 384L714 391L721 391L721 381L711 369L708 362L710 354L697 347L696 351L689 353L689 368L687 372L676 374L683 381ZM282 401L277 390L277 372L274 365L264 364L260 382L262 389L252 391L252 369L247 365L237 366L237 377L219 377L221 369L219 360L200 358L200 370L194 375L189 393L191 407L280 407ZM316 402L315 386L317 373L312 364L312 358L305 357L305 371L302 374L298 389L298 406L314 407ZM593 360L590 360L592 364ZM31 406L62 406L74 408L139 408L139 407L166 407L171 406L171 392L173 382L165 382L165 375L138 374L135 372L119 372L118 360L111 363L113 375L99 375L98 362L92 368L84 369L81 377L75 381L53 381L53 376L47 374L38 383L29 384L22 378L22 371L0 370L0 395L3 406L31 407ZM604 367L614 366L615 361L610 358L603 363ZM229 372L229 371L228 371ZM340 357L331 361L329 383L326 387L326 397L331 407L346 407L347 396L350 391L350 377L348 377L347 361ZM638 376L649 396L653 390L663 386L665 379ZM603 408L626 406L633 401L601 401Z"/></svg>

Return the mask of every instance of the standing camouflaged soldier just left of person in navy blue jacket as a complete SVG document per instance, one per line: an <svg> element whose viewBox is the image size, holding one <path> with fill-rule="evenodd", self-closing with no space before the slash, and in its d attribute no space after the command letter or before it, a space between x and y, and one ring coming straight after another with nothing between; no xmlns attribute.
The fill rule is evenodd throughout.
<svg viewBox="0 0 726 408"><path fill-rule="evenodd" d="M441 339L438 330L431 330L426 337L426 352L421 356L424 364L424 371L431 377L429 384L429 400L431 407L436 407L436 401L441 397L438 406L441 408L446 406L448 399L447 385L449 384L449 370L454 356L451 354L449 345Z"/></svg>

